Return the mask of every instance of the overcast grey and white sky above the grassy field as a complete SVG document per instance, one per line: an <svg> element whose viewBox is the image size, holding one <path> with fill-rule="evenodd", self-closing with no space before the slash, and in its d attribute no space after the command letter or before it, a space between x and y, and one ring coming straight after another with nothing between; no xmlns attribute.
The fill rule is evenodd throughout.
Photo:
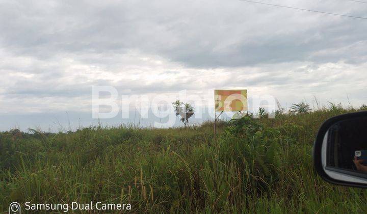
<svg viewBox="0 0 367 214"><path fill-rule="evenodd" d="M367 17L367 4L348 0L258 1ZM367 104L366 19L239 0L0 0L0 29L0 130L97 124L93 86L114 87L120 109L121 96L184 91L208 100L202 120L214 89L284 108ZM136 116L110 122L121 121Z"/></svg>

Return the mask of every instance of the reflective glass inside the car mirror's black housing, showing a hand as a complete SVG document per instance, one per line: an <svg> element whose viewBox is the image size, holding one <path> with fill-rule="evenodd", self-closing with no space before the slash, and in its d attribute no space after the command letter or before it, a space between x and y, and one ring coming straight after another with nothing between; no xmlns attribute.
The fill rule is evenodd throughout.
<svg viewBox="0 0 367 214"><path fill-rule="evenodd" d="M323 167L330 177L367 183L367 117L333 124L322 147Z"/></svg>

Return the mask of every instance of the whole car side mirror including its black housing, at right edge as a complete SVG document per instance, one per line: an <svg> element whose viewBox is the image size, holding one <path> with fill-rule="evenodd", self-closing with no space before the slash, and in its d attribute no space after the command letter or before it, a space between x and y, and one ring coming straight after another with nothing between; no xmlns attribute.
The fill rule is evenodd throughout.
<svg viewBox="0 0 367 214"><path fill-rule="evenodd" d="M367 112L339 115L321 126L313 164L326 181L367 188Z"/></svg>

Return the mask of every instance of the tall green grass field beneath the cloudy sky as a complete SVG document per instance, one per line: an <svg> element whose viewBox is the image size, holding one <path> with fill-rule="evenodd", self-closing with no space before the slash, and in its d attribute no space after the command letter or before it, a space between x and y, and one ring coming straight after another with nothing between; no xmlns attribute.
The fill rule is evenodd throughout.
<svg viewBox="0 0 367 214"><path fill-rule="evenodd" d="M217 140L210 122L2 132L0 212L13 201L101 201L152 213L363 213L367 192L326 183L311 157L322 122L353 111L221 122Z"/></svg>

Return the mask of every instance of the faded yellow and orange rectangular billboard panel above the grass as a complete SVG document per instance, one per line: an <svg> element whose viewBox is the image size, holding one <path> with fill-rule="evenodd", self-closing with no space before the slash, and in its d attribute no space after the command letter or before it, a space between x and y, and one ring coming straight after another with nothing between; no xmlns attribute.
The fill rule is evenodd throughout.
<svg viewBox="0 0 367 214"><path fill-rule="evenodd" d="M216 112L247 111L247 90L214 90Z"/></svg>

